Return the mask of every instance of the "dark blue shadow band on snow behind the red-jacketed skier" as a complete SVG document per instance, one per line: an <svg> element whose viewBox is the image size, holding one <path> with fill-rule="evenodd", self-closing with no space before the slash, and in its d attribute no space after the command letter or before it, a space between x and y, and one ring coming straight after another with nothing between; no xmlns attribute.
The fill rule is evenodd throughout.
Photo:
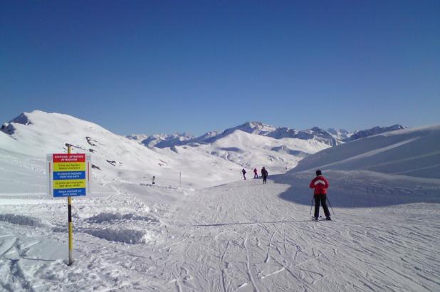
<svg viewBox="0 0 440 292"><path fill-rule="evenodd" d="M362 177L360 174L346 177L340 172L324 173L330 187L328 199L333 208L371 208L387 207L410 203L440 204L440 183L426 183L423 179L408 181L404 179L382 179L381 177ZM314 173L287 173L272 176L275 183L290 184L290 187L279 194L281 199L296 204L310 206L313 189L309 188ZM330 207L330 206L329 206Z"/></svg>

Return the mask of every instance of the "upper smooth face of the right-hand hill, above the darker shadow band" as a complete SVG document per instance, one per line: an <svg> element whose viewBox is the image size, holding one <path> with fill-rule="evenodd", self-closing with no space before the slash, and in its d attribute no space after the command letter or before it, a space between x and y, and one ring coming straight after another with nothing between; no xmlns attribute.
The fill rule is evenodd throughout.
<svg viewBox="0 0 440 292"><path fill-rule="evenodd" d="M303 170L369 170L440 179L440 125L387 132L333 147L301 161Z"/></svg>

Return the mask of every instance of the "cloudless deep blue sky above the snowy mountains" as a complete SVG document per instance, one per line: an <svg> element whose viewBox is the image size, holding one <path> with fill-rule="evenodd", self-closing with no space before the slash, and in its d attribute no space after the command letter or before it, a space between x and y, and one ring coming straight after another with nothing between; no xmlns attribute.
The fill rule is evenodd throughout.
<svg viewBox="0 0 440 292"><path fill-rule="evenodd" d="M121 135L440 123L440 1L0 0L0 120Z"/></svg>

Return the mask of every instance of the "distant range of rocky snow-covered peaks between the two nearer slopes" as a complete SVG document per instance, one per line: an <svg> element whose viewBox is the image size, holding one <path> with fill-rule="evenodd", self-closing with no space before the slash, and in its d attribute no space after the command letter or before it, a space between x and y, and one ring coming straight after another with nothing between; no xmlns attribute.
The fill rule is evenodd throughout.
<svg viewBox="0 0 440 292"><path fill-rule="evenodd" d="M396 127L376 127L360 131L355 138L374 135L379 131L391 131ZM253 169L264 165L272 173L282 173L295 167L299 160L310 154L355 140L352 134L347 130L323 130L320 127L294 130L288 127L273 127L262 122L245 122L222 132L207 132L200 137L187 133L127 137L137 140L154 151L159 151L157 148L169 148L174 152L185 149L203 154L209 153L242 167Z"/></svg>

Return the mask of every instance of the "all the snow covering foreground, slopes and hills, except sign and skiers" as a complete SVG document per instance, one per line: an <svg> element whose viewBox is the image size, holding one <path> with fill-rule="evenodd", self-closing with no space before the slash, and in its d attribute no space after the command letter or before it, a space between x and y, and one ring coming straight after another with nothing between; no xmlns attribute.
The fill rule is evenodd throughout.
<svg viewBox="0 0 440 292"><path fill-rule="evenodd" d="M0 132L2 291L440 290L439 125L331 148L236 130L173 151L68 115L21 120ZM45 189L46 154L65 142L102 168L73 198L71 266L67 200ZM267 167L273 148L307 155L286 174L269 167L267 184L241 180L239 164ZM310 221L318 167L334 221Z"/></svg>

